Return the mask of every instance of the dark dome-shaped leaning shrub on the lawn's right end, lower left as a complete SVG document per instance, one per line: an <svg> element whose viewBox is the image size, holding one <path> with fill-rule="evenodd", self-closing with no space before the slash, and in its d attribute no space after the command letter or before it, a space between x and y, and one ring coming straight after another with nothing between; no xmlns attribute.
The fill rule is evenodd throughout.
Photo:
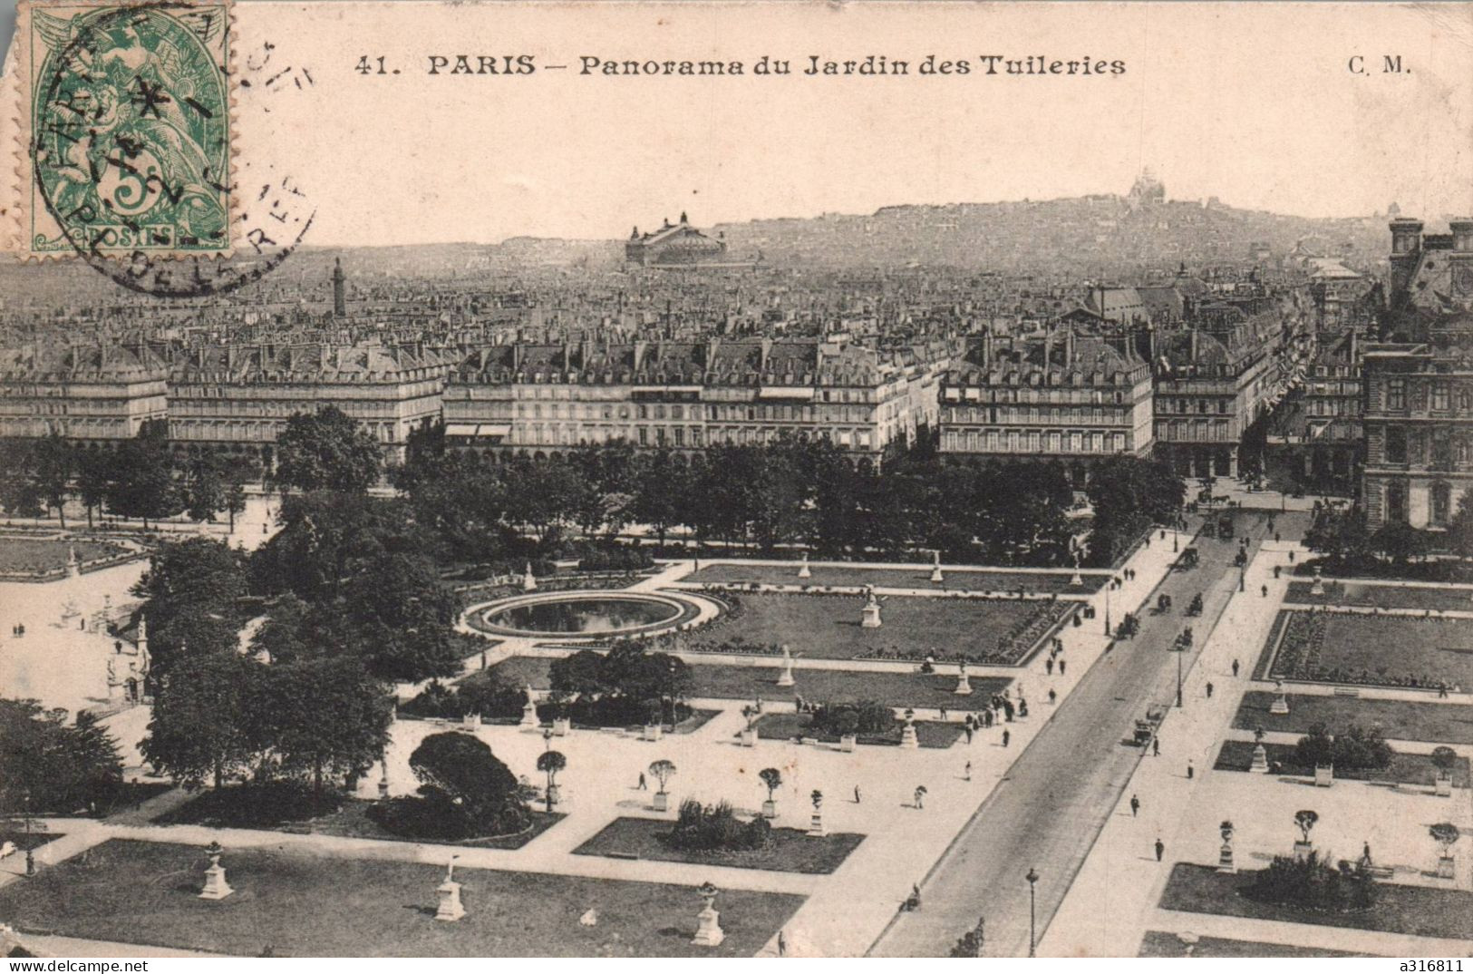
<svg viewBox="0 0 1473 974"><path fill-rule="evenodd" d="M479 738L432 734L409 754L409 768L440 813L464 816L474 830L502 834L530 822L517 777Z"/></svg>

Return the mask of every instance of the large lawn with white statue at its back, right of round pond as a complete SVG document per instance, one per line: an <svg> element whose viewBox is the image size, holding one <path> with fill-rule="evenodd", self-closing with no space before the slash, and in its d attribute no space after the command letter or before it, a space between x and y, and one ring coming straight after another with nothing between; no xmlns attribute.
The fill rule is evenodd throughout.
<svg viewBox="0 0 1473 974"><path fill-rule="evenodd" d="M859 625L865 601L857 595L742 592L735 604L735 612L681 648L750 653L745 647L787 644L813 659L921 662L934 656L940 662L965 657L978 665L1016 666L1080 609L1071 601L891 595L881 601L884 625L865 629Z"/></svg>

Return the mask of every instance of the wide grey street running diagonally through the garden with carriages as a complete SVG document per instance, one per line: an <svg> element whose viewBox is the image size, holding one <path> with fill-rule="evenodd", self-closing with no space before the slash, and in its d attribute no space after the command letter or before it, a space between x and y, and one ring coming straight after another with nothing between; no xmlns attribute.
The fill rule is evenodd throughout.
<svg viewBox="0 0 1473 974"><path fill-rule="evenodd" d="M1262 516L1240 514L1239 533L1264 538ZM1117 642L1068 696L1012 771L957 834L921 886L919 911L899 914L871 947L872 956L944 956L980 917L985 953L1028 953L1030 891L1036 869L1036 934L1041 939L1096 835L1119 800L1142 750L1124 741L1147 704L1175 698L1177 660L1170 651L1184 625L1195 629L1190 665L1206 642L1228 598L1237 591L1236 541L1198 542L1202 560L1173 572L1158 592L1173 600L1170 613L1142 612L1142 632ZM1187 622L1187 603L1202 592L1203 613ZM1155 604L1155 594L1149 598ZM1119 609L1114 622L1119 620ZM1245 666L1252 666L1245 659ZM1171 741L1161 741L1162 757Z"/></svg>

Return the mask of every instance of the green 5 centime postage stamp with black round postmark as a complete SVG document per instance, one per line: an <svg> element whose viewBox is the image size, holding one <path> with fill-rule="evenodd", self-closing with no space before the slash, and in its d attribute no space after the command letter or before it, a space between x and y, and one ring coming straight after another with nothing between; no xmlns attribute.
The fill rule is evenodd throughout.
<svg viewBox="0 0 1473 974"><path fill-rule="evenodd" d="M21 256L231 252L228 0L22 1Z"/></svg>

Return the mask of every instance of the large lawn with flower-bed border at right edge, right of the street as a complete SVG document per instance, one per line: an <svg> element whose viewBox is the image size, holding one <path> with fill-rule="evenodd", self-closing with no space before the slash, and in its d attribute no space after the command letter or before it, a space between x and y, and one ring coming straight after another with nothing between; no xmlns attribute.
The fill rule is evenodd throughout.
<svg viewBox="0 0 1473 974"><path fill-rule="evenodd" d="M1283 612L1270 679L1436 690L1473 687L1473 620Z"/></svg>

